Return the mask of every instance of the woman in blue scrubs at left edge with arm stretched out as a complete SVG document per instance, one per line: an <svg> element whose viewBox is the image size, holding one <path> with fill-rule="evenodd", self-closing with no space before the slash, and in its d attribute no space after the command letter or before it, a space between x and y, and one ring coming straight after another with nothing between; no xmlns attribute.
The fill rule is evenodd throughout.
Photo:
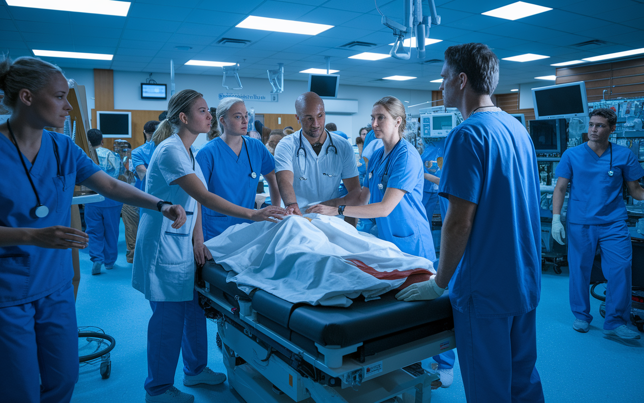
<svg viewBox="0 0 644 403"><path fill-rule="evenodd" d="M61 69L35 57L0 61L0 390L3 402L69 402L79 373L71 249L88 245L70 228L74 185L155 209L160 199L102 172L60 128L71 108ZM179 228L180 206L162 213Z"/></svg>

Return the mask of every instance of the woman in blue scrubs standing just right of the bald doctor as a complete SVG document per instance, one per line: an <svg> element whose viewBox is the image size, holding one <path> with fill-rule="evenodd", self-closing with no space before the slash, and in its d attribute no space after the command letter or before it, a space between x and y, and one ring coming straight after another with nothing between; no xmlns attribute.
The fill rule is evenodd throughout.
<svg viewBox="0 0 644 403"><path fill-rule="evenodd" d="M403 103L395 97L383 97L374 104L371 119L375 137L383 140L384 147L370 159L363 183L360 201L369 204L338 208L316 204L307 213L375 218L381 239L393 242L405 253L434 262L430 222L422 205L422 160L414 146L403 139L406 126ZM454 351L433 359L439 363L443 386L450 386Z"/></svg>

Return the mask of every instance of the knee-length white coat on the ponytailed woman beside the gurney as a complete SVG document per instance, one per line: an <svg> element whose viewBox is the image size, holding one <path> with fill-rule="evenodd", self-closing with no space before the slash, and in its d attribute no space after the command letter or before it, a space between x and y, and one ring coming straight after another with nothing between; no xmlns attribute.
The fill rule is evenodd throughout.
<svg viewBox="0 0 644 403"><path fill-rule="evenodd" d="M194 155L194 148L191 149ZM187 221L175 230L171 227L173 222L159 211L141 209L132 286L144 293L147 300L180 302L193 299L192 238L197 202L180 186L171 184L190 173L195 173L206 186L199 164L191 159L176 133L156 147L147 167L146 192L183 206Z"/></svg>

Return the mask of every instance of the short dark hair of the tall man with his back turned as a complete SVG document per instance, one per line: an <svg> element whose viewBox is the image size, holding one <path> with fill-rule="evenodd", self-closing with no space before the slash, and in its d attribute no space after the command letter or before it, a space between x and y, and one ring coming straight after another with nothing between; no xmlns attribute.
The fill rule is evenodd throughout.
<svg viewBox="0 0 644 403"><path fill-rule="evenodd" d="M450 74L465 73L475 93L492 95L498 85L498 57L486 44L464 43L445 51Z"/></svg>

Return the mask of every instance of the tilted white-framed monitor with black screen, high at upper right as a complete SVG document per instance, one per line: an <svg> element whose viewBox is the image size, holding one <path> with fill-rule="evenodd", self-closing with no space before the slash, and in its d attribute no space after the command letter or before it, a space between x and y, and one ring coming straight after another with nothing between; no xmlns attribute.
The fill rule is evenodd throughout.
<svg viewBox="0 0 644 403"><path fill-rule="evenodd" d="M588 116L586 84L556 84L532 89L536 119Z"/></svg>

